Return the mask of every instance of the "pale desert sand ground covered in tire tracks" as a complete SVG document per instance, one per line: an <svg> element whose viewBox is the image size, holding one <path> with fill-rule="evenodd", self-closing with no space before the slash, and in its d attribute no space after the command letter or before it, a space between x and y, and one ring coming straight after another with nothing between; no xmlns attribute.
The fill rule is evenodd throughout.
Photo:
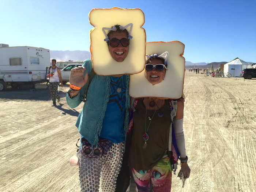
<svg viewBox="0 0 256 192"><path fill-rule="evenodd" d="M48 90L0 93L0 191L80 191L78 167L68 159L79 138L82 104L53 107ZM191 176L175 192L245 192L256 186L256 79L205 78L185 73L184 132Z"/></svg>

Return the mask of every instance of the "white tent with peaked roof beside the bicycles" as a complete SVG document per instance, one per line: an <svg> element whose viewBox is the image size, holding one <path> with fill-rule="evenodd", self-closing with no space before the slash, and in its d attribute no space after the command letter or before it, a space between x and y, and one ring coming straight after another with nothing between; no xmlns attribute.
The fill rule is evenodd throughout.
<svg viewBox="0 0 256 192"><path fill-rule="evenodd" d="M252 65L238 57L224 65L224 73L230 73L232 77L240 77L242 69L252 68Z"/></svg>

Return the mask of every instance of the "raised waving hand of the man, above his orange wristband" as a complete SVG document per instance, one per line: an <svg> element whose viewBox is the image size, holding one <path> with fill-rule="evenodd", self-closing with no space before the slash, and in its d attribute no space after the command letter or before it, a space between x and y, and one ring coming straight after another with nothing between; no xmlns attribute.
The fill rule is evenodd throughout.
<svg viewBox="0 0 256 192"><path fill-rule="evenodd" d="M88 81L88 73L83 77L83 72L85 70L86 68L81 66L71 69L69 83L77 87L83 87Z"/></svg>

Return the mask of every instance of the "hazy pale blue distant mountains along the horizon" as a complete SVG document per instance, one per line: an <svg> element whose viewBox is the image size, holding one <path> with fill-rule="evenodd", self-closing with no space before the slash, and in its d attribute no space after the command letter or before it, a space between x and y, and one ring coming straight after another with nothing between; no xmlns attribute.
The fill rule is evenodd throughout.
<svg viewBox="0 0 256 192"><path fill-rule="evenodd" d="M75 51L55 51L55 50L50 50L50 58L51 59L56 59L57 61L68 61L68 60L73 60L73 61L83 61L85 59L89 59L91 57L91 53L89 51L80 51L80 50L75 50ZM185 62L185 66L187 68L210 68L211 65L213 65L214 68L219 67L219 64L226 64L226 61L222 62L212 62L212 63L192 63L190 61ZM248 62L248 63L253 63L253 62Z"/></svg>

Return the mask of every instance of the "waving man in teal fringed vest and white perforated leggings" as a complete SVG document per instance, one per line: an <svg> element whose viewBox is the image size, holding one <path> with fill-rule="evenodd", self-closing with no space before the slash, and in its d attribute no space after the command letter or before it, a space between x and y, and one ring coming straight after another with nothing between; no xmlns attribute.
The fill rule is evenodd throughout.
<svg viewBox="0 0 256 192"><path fill-rule="evenodd" d="M107 43L112 58L122 62L128 54L129 34L115 27ZM97 75L87 59L82 67L71 70L69 82L68 105L75 108L84 101L76 120L82 136L77 152L81 191L115 191L129 120L129 75Z"/></svg>

